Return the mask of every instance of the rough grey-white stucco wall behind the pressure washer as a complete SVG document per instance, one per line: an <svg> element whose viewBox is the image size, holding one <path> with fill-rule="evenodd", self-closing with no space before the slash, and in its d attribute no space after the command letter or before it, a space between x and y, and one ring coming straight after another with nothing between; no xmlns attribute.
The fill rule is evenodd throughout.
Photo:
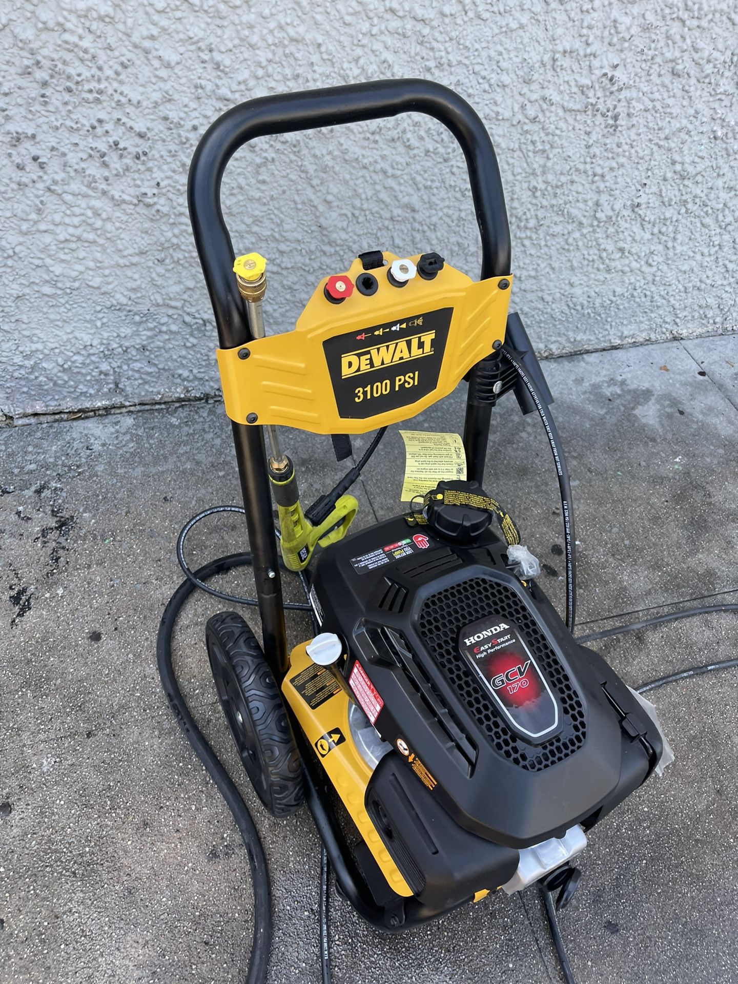
<svg viewBox="0 0 738 984"><path fill-rule="evenodd" d="M734 0L4 0L0 43L8 415L215 392L199 135L250 96L374 78L435 79L489 127L541 350L735 330ZM475 275L464 182L420 117L242 152L224 209L270 258L269 325L367 248Z"/></svg>

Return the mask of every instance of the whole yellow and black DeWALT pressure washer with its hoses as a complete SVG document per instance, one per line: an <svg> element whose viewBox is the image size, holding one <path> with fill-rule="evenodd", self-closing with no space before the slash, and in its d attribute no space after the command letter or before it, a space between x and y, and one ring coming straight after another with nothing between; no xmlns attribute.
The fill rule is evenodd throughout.
<svg viewBox="0 0 738 984"><path fill-rule="evenodd" d="M228 160L257 137L404 112L434 117L461 145L481 276L452 266L439 242L408 257L377 244L318 283L293 331L268 335L266 261L256 252L234 256L220 210ZM182 530L177 554L187 580L164 613L158 663L169 703L248 848L255 898L249 980L264 980L267 971L266 859L172 668L174 621L196 587L258 607L261 639L227 610L208 621L207 651L259 798L277 817L305 803L323 841L324 980L330 868L339 894L388 933L532 884L544 887L557 932L555 908L576 891L574 861L590 831L662 769L670 751L652 705L583 645L587 637L573 635L571 485L551 393L523 321L510 311L510 230L487 131L459 95L420 80L253 99L222 115L200 141L189 208L215 312L243 508L205 510ZM463 477L429 480L394 518L352 531L358 505L349 489L386 429L460 384ZM538 565L517 523L486 484L491 413L511 393L523 413L540 417L556 467L564 619L536 580ZM303 508L279 427L331 437L339 461L351 457L352 439L376 433L338 485ZM245 515L250 552L191 571L187 533L228 510ZM208 584L245 565L255 599ZM299 578L305 602L284 601L288 572ZM311 638L291 647L289 609L309 612L314 626Z"/></svg>

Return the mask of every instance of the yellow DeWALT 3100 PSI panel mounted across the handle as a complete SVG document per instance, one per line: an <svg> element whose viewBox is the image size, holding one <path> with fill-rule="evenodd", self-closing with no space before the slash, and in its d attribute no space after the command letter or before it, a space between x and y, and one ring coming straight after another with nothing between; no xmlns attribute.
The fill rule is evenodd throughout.
<svg viewBox="0 0 738 984"><path fill-rule="evenodd" d="M354 286L339 304L325 295L329 278L321 280L294 331L255 338L247 358L238 354L244 346L218 349L231 420L363 434L448 396L504 341L512 277L474 281L446 265L432 280L397 287L387 270L367 272L377 280L373 294ZM361 261L344 276L362 283Z"/></svg>

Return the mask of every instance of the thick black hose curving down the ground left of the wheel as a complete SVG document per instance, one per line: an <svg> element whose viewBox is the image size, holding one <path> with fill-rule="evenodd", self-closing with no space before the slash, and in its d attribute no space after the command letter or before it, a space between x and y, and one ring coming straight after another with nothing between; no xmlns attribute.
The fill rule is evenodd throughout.
<svg viewBox="0 0 738 984"><path fill-rule="evenodd" d="M230 554L227 557L220 557L218 560L211 561L210 564L201 567L195 574L198 579L207 581L209 578L215 577L216 574L249 564L251 564L251 554ZM220 795L225 800L246 846L254 893L254 936L246 982L247 984L264 984L267 980L269 954L272 949L272 887L264 847L259 838L259 831L254 826L254 821L241 798L241 794L195 723L177 684L172 665L171 639L174 624L182 605L195 590L195 586L190 580L183 581L169 599L164 614L161 616L158 636L156 637L156 662L169 707L171 707L197 757L205 766Z"/></svg>

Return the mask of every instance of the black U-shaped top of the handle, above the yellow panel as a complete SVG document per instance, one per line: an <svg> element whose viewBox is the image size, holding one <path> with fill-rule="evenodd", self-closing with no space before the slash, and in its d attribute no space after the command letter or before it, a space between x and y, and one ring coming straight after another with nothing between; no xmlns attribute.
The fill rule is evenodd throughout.
<svg viewBox="0 0 738 984"><path fill-rule="evenodd" d="M434 116L461 144L482 239L481 276L510 273L510 228L497 158L482 121L456 92L423 79L391 79L251 99L215 120L190 166L190 218L221 346L249 339L243 302L231 272L233 247L220 211L220 181L231 155L254 137L406 112Z"/></svg>

